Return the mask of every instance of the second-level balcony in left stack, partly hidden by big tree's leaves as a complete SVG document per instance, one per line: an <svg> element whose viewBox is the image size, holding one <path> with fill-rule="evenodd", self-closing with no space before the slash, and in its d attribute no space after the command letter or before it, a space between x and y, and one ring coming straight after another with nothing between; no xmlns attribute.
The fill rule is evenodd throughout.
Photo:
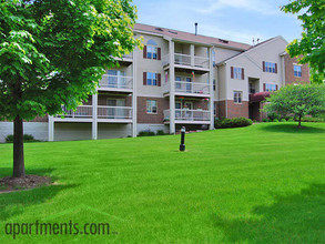
<svg viewBox="0 0 325 244"><path fill-rule="evenodd" d="M99 83L99 90L101 91L114 91L114 92L132 92L133 78L122 75L104 74Z"/></svg>

